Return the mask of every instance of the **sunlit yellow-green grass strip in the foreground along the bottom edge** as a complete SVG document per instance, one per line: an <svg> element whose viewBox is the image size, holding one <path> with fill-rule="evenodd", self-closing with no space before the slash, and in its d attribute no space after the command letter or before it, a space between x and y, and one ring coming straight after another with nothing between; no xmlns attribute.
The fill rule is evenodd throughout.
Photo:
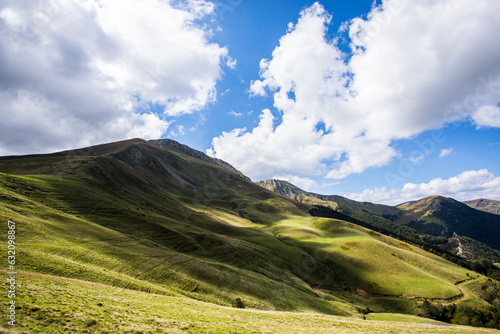
<svg viewBox="0 0 500 334"><path fill-rule="evenodd" d="M19 323L7 333L498 333L397 314L362 320L242 310L30 272L18 278Z"/></svg>

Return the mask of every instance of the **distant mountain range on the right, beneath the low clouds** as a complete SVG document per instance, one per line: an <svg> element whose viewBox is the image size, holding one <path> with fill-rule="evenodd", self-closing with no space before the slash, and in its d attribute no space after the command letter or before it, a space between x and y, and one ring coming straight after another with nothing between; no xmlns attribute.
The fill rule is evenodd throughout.
<svg viewBox="0 0 500 334"><path fill-rule="evenodd" d="M452 198L431 196L398 206L388 206L357 202L338 195L307 192L282 180L267 180L257 184L300 202L327 205L353 218L384 226L389 230L398 229L396 224L404 225L425 235L447 239L468 237L500 250L500 215L479 211L470 206L474 204L495 210L495 204L498 204L495 201L480 200L466 205ZM474 257L471 254L469 256Z"/></svg>

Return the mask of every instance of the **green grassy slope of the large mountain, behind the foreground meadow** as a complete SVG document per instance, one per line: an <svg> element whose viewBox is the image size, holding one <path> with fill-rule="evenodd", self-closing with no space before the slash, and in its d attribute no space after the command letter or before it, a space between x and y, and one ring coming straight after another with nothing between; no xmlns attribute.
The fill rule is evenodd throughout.
<svg viewBox="0 0 500 334"><path fill-rule="evenodd" d="M0 174L0 220L18 222L19 269L220 305L241 298L251 308L337 315L357 314L356 306L415 314L414 301L355 291L442 298L457 294L454 283L466 277L397 240L306 216L297 203L220 167L172 153L164 160L175 170L165 173L151 158L162 152L134 149L0 163L33 174ZM153 166L147 173L144 163Z"/></svg>

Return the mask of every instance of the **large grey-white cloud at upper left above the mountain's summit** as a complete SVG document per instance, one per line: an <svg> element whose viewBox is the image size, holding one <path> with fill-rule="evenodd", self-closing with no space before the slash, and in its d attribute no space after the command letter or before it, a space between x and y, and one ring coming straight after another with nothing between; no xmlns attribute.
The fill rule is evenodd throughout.
<svg viewBox="0 0 500 334"><path fill-rule="evenodd" d="M227 49L198 24L211 2L0 5L0 154L160 137L215 99ZM160 112L158 112L160 110Z"/></svg>

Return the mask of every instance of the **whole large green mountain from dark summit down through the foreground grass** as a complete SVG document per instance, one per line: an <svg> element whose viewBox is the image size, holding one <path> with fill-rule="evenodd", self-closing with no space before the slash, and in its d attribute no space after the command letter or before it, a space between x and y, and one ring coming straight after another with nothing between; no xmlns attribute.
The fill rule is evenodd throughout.
<svg viewBox="0 0 500 334"><path fill-rule="evenodd" d="M424 300L462 305L447 319L458 324L476 317L471 308L496 310L479 299L487 277L347 216L312 216L314 206L197 152L134 139L0 157L20 323L44 333L269 332L266 320L278 332L328 332L332 323L400 332L408 324L358 319L415 321Z"/></svg>

